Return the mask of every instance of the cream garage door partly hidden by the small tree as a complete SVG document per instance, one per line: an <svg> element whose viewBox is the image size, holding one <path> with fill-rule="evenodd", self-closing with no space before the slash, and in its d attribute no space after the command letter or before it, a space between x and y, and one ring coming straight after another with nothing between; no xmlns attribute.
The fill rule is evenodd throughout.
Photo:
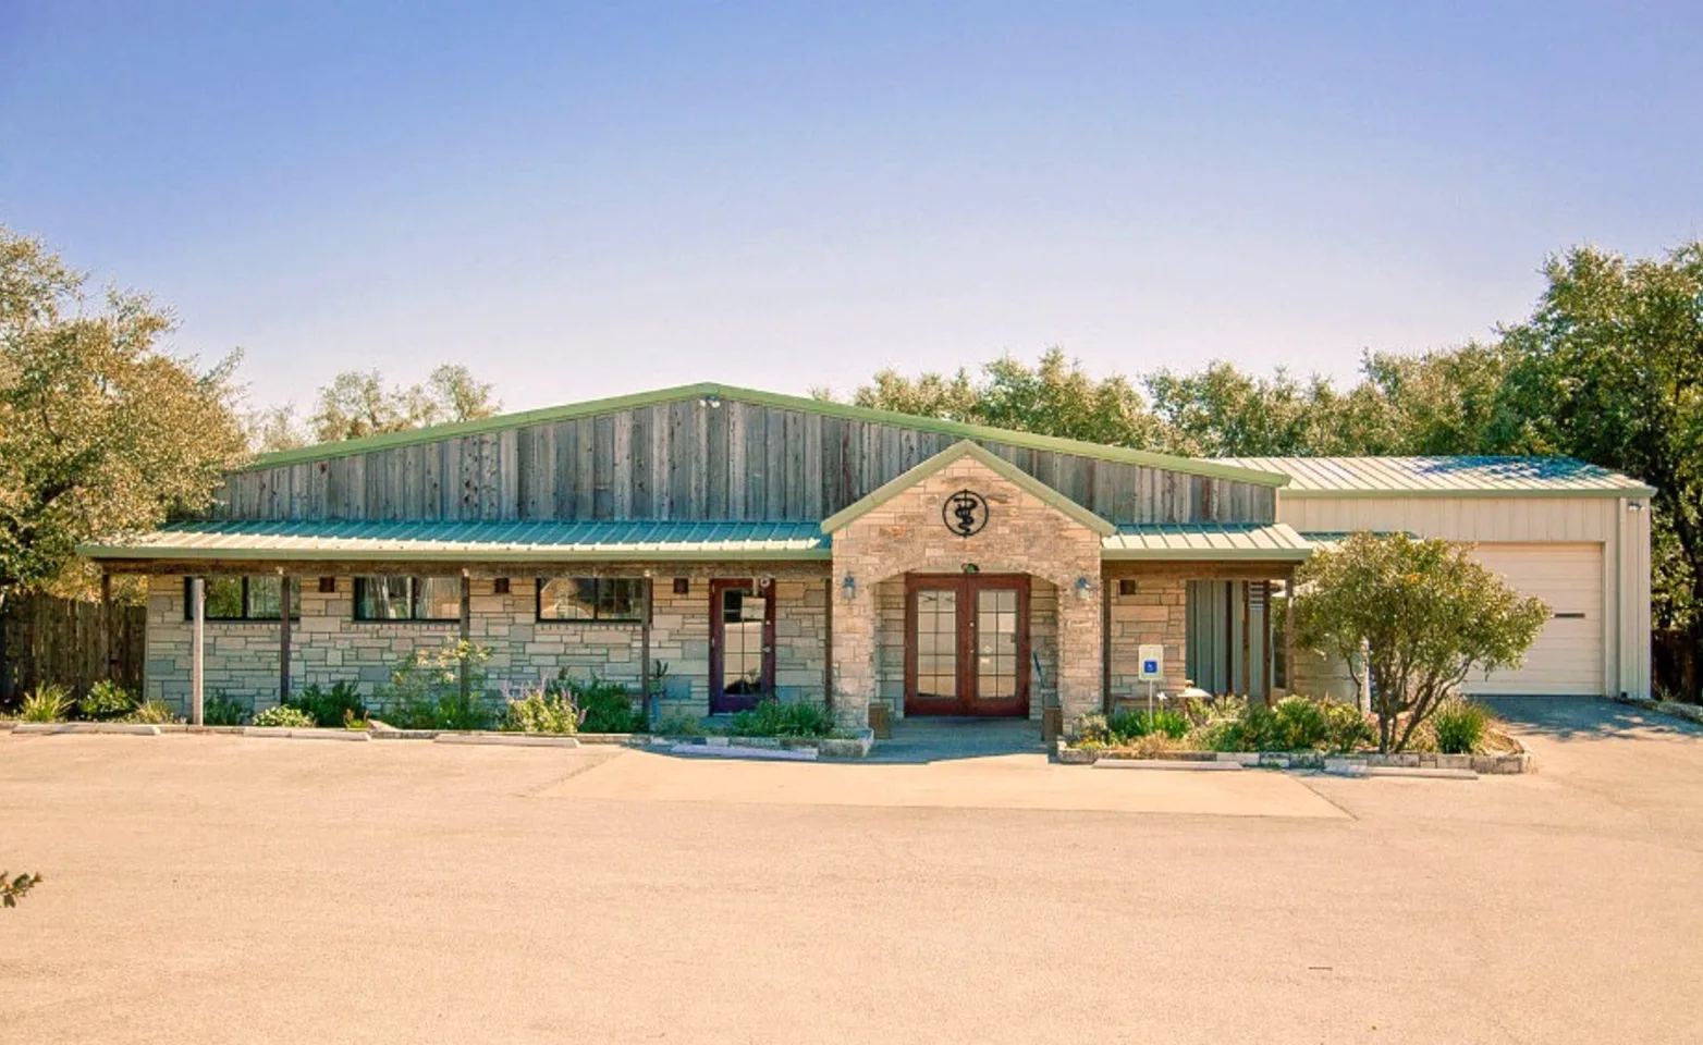
<svg viewBox="0 0 1703 1045"><path fill-rule="evenodd" d="M1603 693L1603 545L1478 545L1477 558L1528 596L1550 621L1524 667L1480 676L1468 693L1599 696Z"/></svg>

